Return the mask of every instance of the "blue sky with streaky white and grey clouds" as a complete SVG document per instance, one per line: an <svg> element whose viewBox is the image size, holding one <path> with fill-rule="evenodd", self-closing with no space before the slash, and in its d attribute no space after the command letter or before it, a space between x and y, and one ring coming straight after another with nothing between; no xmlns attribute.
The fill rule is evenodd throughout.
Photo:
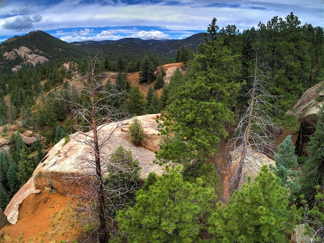
<svg viewBox="0 0 324 243"><path fill-rule="evenodd" d="M0 0L0 43L43 30L65 42L151 36L183 39L217 25L257 28L291 12L324 27L324 0Z"/></svg>

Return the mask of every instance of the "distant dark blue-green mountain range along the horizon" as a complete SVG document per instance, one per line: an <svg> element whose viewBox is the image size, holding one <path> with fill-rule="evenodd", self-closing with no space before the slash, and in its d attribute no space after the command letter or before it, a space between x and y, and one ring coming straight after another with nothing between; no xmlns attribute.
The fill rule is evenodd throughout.
<svg viewBox="0 0 324 243"><path fill-rule="evenodd" d="M21 46L31 50L39 50L48 54L47 58L81 58L87 52L102 52L117 58L119 55L128 55L137 58L143 55L156 55L160 58L173 58L177 50L184 46L186 49L196 50L205 42L206 33L198 33L185 39L140 39L123 38L117 41L86 41L66 43L44 32L32 31L22 36L14 36L0 44L0 54L12 51ZM58 52L59 50L59 52Z"/></svg>

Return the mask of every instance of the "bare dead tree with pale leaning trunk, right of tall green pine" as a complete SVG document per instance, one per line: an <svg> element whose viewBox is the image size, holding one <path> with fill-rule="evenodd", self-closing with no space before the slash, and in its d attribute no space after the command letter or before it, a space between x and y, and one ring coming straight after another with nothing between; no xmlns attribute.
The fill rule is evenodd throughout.
<svg viewBox="0 0 324 243"><path fill-rule="evenodd" d="M233 153L238 150L239 153L239 163L231 179L234 190L238 189L239 184L243 181L245 168L248 170L257 169L257 158L250 156L252 152L272 153L272 138L279 132L270 117L270 111L275 111L276 107L269 101L276 97L267 92L267 87L270 84L266 81L265 72L261 70L257 51L254 64L254 75L250 76L253 78L253 86L246 94L250 98L249 105L235 129L236 136L230 140L230 150ZM248 157L250 159L247 159Z"/></svg>

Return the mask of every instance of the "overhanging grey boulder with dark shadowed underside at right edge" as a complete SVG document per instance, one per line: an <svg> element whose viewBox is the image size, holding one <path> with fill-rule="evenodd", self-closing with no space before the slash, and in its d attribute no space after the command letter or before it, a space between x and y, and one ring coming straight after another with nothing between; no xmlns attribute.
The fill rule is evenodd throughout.
<svg viewBox="0 0 324 243"><path fill-rule="evenodd" d="M315 125L318 120L318 110L324 104L324 82L321 82L308 90L300 97L294 105L293 114L300 121L300 129L296 141L296 152L298 156L307 155L306 146L310 137L315 132Z"/></svg>

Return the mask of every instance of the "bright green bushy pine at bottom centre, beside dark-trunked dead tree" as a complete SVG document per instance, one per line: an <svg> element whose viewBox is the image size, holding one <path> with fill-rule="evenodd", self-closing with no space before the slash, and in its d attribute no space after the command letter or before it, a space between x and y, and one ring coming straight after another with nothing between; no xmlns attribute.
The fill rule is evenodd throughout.
<svg viewBox="0 0 324 243"><path fill-rule="evenodd" d="M153 177L155 178L155 177ZM154 179L155 180L155 179ZM194 242L203 237L204 220L211 213L215 191L203 179L185 181L179 168L150 180L136 196L134 207L116 217L119 242Z"/></svg>

